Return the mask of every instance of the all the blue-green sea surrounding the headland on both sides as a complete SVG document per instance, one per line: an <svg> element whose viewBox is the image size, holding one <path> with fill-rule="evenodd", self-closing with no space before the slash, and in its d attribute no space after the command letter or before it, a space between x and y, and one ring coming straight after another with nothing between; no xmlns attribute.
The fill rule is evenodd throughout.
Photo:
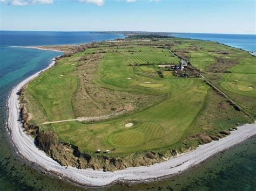
<svg viewBox="0 0 256 191"><path fill-rule="evenodd" d="M198 35L198 34L197 34ZM208 36L210 35L210 36ZM195 38L212 38L202 34ZM231 42L235 47L253 51L251 38L236 41L225 34L215 41ZM6 100L11 89L21 80L45 68L60 52L10 46L78 44L92 40L122 38L120 35L89 32L11 32L0 31L0 190L79 190L68 181L42 174L15 153L5 129ZM185 36L183 36L185 37ZM192 38L190 36L190 38ZM233 38L233 41L231 40ZM212 40L212 39L206 39ZM231 45L231 44L228 44ZM244 46L242 46L244 45ZM254 49L254 52L255 49ZM136 185L114 185L109 190L256 190L256 138L234 146L203 164L173 178Z"/></svg>

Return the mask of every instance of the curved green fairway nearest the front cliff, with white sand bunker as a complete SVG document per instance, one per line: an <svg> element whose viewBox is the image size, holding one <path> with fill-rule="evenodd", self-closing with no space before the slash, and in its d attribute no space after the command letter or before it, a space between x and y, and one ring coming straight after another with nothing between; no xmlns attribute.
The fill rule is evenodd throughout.
<svg viewBox="0 0 256 191"><path fill-rule="evenodd" d="M126 153L175 144L187 136L186 130L203 106L208 87L199 79L188 82L173 79L168 85L170 90L176 90L170 91L166 101L136 114L96 124L58 123L53 128L61 140L69 140L82 151L115 147L115 153ZM187 96L191 98L189 101ZM134 125L126 128L125 124L130 122Z"/></svg>

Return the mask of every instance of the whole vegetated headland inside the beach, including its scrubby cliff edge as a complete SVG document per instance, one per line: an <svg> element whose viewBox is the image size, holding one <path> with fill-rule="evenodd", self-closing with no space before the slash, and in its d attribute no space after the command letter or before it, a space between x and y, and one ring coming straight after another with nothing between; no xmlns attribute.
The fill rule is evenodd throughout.
<svg viewBox="0 0 256 191"><path fill-rule="evenodd" d="M173 69L181 59L188 66ZM252 122L255 69L248 52L212 41L132 36L76 46L21 90L24 126L62 165L151 165Z"/></svg>

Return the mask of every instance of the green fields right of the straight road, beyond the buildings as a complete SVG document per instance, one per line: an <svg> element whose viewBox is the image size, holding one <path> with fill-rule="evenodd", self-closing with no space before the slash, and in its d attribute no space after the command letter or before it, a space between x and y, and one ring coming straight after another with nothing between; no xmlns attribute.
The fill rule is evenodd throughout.
<svg viewBox="0 0 256 191"><path fill-rule="evenodd" d="M203 40L184 40L173 47L242 108L256 116L256 58L241 49ZM218 76L215 79L213 73ZM228 73L226 73L228 72Z"/></svg>

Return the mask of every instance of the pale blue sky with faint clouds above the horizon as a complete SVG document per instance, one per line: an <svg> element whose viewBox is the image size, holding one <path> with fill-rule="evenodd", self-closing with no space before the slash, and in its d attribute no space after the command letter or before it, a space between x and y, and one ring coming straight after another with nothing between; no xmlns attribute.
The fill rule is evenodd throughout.
<svg viewBox="0 0 256 191"><path fill-rule="evenodd" d="M0 0L0 30L256 34L256 0Z"/></svg>

